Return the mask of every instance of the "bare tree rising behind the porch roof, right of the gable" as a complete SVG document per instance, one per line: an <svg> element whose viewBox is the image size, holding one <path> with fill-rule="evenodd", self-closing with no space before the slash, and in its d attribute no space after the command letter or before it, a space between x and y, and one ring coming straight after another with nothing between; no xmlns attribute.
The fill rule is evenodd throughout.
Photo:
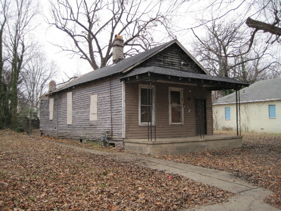
<svg viewBox="0 0 281 211"><path fill-rule="evenodd" d="M245 53L249 33L241 23L234 20L213 20L211 23L204 24L205 36L194 33L197 40L193 43L196 55L211 75L253 83L268 68L279 64L269 54L269 46L257 41L253 41L252 48Z"/></svg>

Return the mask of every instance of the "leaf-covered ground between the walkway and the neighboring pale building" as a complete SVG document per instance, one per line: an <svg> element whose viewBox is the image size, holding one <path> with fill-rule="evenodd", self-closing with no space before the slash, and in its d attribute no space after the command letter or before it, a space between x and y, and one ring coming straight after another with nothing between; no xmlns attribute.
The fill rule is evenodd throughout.
<svg viewBox="0 0 281 211"><path fill-rule="evenodd" d="M235 135L234 131L215 131ZM266 201L281 209L281 135L244 132L243 147L162 156L162 159L231 172L274 192Z"/></svg>

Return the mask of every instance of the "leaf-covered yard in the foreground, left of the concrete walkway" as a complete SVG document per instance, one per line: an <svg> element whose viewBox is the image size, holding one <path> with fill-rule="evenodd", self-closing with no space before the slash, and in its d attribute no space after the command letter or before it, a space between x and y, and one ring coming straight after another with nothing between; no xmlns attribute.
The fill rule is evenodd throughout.
<svg viewBox="0 0 281 211"><path fill-rule="evenodd" d="M1 211L183 210L231 193L132 162L0 130ZM172 179L169 179L172 176Z"/></svg>

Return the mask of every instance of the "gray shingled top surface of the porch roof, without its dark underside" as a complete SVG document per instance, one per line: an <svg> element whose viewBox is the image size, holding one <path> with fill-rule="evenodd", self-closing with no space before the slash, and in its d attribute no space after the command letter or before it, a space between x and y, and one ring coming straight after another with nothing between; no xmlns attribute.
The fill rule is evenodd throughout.
<svg viewBox="0 0 281 211"><path fill-rule="evenodd" d="M244 83L242 81L237 81L228 77L218 77L218 76L211 76L211 75L204 75L204 74L198 74L198 73L190 73L186 71L179 71L179 70L173 70L168 69L164 67L158 67L158 66L148 66L148 67L141 67L138 69L132 70L130 73L126 74L121 79L143 74L143 73L157 73L162 75L168 75L168 76L177 76L182 78L190 78L190 79L203 79L203 80L210 80L210 81L221 81L221 82L229 82L229 83L235 83L235 84L241 84L241 85L248 85L247 83Z"/></svg>

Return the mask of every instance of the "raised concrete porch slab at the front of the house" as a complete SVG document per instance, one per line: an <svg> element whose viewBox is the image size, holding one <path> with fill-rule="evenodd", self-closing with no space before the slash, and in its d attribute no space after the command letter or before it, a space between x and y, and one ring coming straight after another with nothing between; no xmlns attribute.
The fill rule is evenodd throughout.
<svg viewBox="0 0 281 211"><path fill-rule="evenodd" d="M205 149L236 148L242 146L242 136L204 135L143 139L124 139L125 149L154 156L199 152Z"/></svg>

